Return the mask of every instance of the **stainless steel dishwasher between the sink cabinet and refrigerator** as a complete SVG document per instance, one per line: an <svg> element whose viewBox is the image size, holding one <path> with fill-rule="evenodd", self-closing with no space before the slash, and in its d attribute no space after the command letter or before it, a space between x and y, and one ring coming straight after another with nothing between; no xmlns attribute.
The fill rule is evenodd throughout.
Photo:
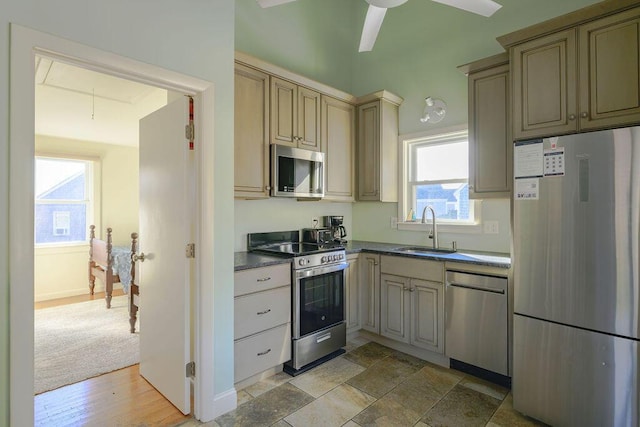
<svg viewBox="0 0 640 427"><path fill-rule="evenodd" d="M447 270L445 354L509 375L507 278Z"/></svg>

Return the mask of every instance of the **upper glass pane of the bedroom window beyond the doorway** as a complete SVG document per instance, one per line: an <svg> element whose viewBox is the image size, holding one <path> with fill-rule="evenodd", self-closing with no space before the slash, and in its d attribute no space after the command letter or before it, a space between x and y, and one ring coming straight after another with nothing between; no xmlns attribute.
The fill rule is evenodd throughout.
<svg viewBox="0 0 640 427"><path fill-rule="evenodd" d="M36 158L36 199L85 200L86 162Z"/></svg>

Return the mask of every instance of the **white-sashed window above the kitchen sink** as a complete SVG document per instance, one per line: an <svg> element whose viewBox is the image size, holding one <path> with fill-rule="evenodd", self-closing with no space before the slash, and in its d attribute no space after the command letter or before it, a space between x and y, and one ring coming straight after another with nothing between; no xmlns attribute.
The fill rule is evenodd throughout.
<svg viewBox="0 0 640 427"><path fill-rule="evenodd" d="M467 131L418 136L404 140L403 147L400 218L419 222L425 207L431 206L438 223L475 224L474 202L469 200ZM426 215L431 222L429 211Z"/></svg>

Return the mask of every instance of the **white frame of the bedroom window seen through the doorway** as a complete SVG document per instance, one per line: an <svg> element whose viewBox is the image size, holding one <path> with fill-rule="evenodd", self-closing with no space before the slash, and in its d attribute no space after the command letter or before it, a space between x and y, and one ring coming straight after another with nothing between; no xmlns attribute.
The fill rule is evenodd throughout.
<svg viewBox="0 0 640 427"><path fill-rule="evenodd" d="M56 204L60 201L63 201L68 204L87 204L87 230L86 230L86 238L84 240L77 241L69 241L69 242L46 242L46 243L36 243L35 241L35 230L33 235L33 243L35 248L56 248L56 247L77 247L77 246L86 246L89 243L89 230L88 226L90 224L95 225L98 229L101 228L100 224L100 212L101 210L101 159L100 157L95 156L85 156L78 154L67 154L67 153L51 153L51 152L40 152L36 151L34 155L34 168L35 168L35 160L36 159L50 159L50 160L66 160L66 161L76 161L76 162L85 162L86 167L86 178L85 178L85 197L86 201L77 201L77 200L40 200L36 199L35 188L34 188L34 207L38 204ZM35 213L34 213L35 215ZM34 217L35 222L35 217Z"/></svg>

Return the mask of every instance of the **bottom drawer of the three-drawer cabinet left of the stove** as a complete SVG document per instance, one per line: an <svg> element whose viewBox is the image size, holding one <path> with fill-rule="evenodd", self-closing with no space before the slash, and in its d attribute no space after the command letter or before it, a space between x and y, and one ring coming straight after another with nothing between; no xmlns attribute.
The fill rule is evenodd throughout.
<svg viewBox="0 0 640 427"><path fill-rule="evenodd" d="M233 349L238 382L291 359L291 324L237 340Z"/></svg>

